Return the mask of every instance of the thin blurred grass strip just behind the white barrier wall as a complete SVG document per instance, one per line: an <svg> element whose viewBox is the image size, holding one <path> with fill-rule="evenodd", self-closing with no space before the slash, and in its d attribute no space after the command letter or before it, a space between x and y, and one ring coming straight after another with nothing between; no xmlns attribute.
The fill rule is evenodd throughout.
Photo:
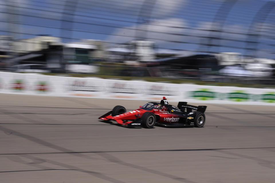
<svg viewBox="0 0 275 183"><path fill-rule="evenodd" d="M103 74L74 74L74 73L43 73L45 75L68 76L68 77L99 77L103 79L122 79L122 80L143 80L149 82L163 82L163 83L192 83L197 85L211 85L211 86L237 86L237 87L250 87L250 88L275 88L273 85L260 85L260 84L241 84L241 83L225 83L216 81L198 81L191 79L172 79L164 77L131 77L131 76L116 76L116 75L103 75Z"/></svg>

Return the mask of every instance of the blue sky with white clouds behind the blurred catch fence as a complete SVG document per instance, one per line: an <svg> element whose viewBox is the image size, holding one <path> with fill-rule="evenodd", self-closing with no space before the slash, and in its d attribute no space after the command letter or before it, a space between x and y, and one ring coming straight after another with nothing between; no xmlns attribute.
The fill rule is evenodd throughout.
<svg viewBox="0 0 275 183"><path fill-rule="evenodd" d="M15 14L7 16L7 3L13 5ZM149 2L149 3L148 3ZM151 2L151 4L150 4ZM222 0L147 0L147 8L141 8L144 0L78 0L75 6L75 16L72 24L73 31L61 31L64 19L64 0L0 0L1 20L0 34L7 34L8 26L5 21L11 19L17 23L13 24L13 35L19 39L35 37L39 34L47 34L56 37L69 37L64 41L77 41L79 39L99 39L110 43L123 43L135 39L135 36L155 41L157 47L163 50L175 51L182 54L196 54L199 51L213 52L240 52L245 51L247 36L252 20L257 11L267 1L264 0L239 0L227 1L232 3L228 16L227 6L224 11L219 11ZM145 7L145 6L143 6ZM154 7L151 9L151 7ZM254 23L253 26L264 27L258 41L258 49L255 56L263 58L275 58L274 48L269 44L275 44L272 33L274 30L274 11L272 10L266 21ZM72 12L72 11L70 11ZM220 12L217 14L217 12ZM70 15L68 15L70 17ZM272 18L273 17L273 18ZM140 19L148 20L146 25L138 24ZM221 27L213 22L221 21ZM148 30L146 34L143 31ZM211 29L221 29L226 33L213 33ZM70 35L71 33L71 35ZM268 37L268 36L269 37ZM210 42L207 37L218 36L221 40ZM213 43L221 47L207 47L202 43ZM112 44L113 45L113 44ZM253 45L249 45L250 47ZM180 51L182 50L182 51ZM254 54L254 53L253 53Z"/></svg>

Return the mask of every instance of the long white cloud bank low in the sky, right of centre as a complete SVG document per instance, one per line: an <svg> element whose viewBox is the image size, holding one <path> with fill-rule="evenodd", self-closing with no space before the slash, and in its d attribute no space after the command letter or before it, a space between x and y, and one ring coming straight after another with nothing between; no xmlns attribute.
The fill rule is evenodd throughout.
<svg viewBox="0 0 275 183"><path fill-rule="evenodd" d="M187 29L176 28L176 27L186 27ZM135 30L129 30L127 28L148 30L149 32L146 32L145 38L152 39L160 47L162 47L162 45L165 45L165 47L167 47L167 45L176 44L169 41L201 43L202 41L204 42L207 41L208 40L207 37L215 36L217 34L219 34L219 36L222 39L245 40L246 35L243 35L243 33L247 32L247 28L242 25L226 25L223 27L223 31L240 33L240 34L232 34L232 33L216 34L215 32L213 33L210 31L213 29L214 30L217 29L216 25L213 24L213 22L199 22L196 27L190 27L184 19L170 18L170 19L153 20L152 22L146 25L144 24L137 25L137 26L133 25L131 27L116 29L114 34L124 35L126 37L109 36L107 41L123 43L123 42L127 42L135 39L136 35L142 35L142 34L137 34L137 31ZM188 29L188 28L191 28L191 29ZM131 36L131 37L127 37L127 36ZM168 41L165 42L158 39L163 39ZM184 48L179 48L179 49L184 49Z"/></svg>

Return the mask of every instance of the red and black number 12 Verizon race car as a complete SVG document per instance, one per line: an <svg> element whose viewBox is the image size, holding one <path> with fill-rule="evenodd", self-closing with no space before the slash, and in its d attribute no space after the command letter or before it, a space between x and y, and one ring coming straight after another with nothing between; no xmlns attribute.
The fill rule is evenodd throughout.
<svg viewBox="0 0 275 183"><path fill-rule="evenodd" d="M123 106L115 106L112 111L99 117L103 121L116 121L126 126L142 126L153 128L155 125L163 127L195 126L205 124L205 110L207 106L192 106L187 102L178 102L178 106L169 105L163 97L160 103L149 102L139 109L126 112Z"/></svg>

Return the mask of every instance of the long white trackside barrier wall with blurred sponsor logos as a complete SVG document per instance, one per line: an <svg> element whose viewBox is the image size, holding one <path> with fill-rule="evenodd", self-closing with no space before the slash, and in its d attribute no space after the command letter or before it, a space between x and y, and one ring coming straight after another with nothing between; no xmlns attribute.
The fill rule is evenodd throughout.
<svg viewBox="0 0 275 183"><path fill-rule="evenodd" d="M128 100L275 105L275 89L155 83L0 72L0 93Z"/></svg>

